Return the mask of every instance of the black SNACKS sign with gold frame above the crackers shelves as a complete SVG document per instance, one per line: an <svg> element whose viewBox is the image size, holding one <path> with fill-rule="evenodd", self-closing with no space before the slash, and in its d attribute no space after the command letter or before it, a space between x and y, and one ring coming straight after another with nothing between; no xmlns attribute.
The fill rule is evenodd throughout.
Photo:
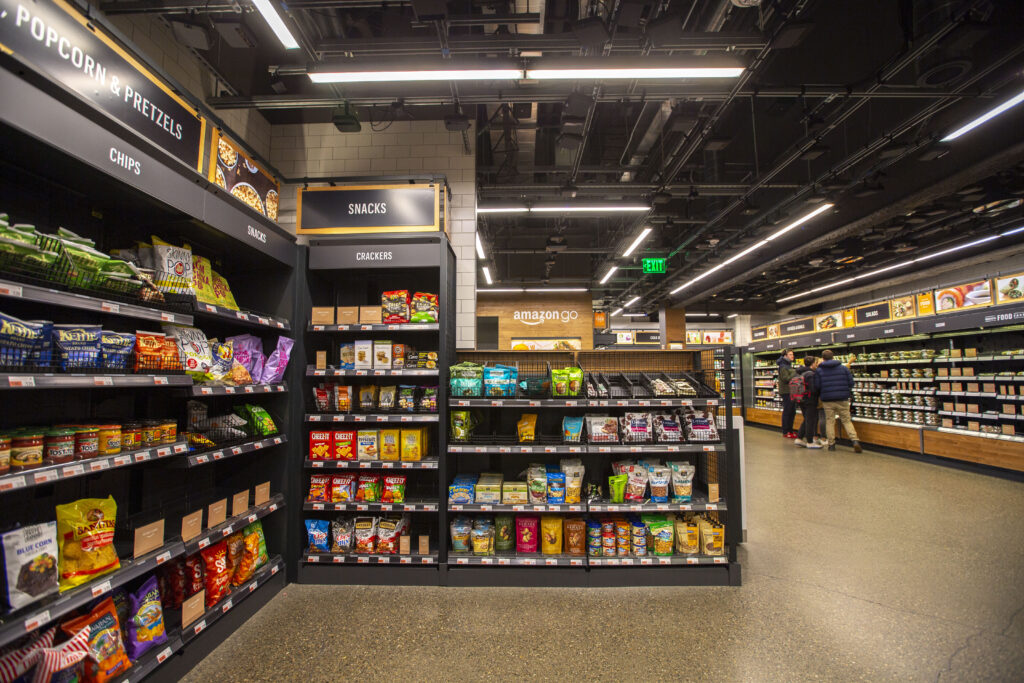
<svg viewBox="0 0 1024 683"><path fill-rule="evenodd" d="M351 185L299 189L299 234L440 229L440 185Z"/></svg>

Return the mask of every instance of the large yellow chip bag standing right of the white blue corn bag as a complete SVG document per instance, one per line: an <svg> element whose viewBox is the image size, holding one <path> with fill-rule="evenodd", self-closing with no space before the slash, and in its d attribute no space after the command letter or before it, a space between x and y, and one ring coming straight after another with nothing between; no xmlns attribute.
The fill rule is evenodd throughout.
<svg viewBox="0 0 1024 683"><path fill-rule="evenodd" d="M114 550L118 505L113 496L58 505L56 513L61 591L121 568Z"/></svg>

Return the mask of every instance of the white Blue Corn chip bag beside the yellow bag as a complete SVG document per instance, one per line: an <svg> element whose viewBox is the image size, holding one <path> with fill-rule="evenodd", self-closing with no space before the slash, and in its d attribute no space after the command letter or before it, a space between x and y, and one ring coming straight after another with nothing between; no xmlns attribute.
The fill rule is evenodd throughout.
<svg viewBox="0 0 1024 683"><path fill-rule="evenodd" d="M4 597L18 609L57 592L57 524L43 522L0 536L3 545Z"/></svg>

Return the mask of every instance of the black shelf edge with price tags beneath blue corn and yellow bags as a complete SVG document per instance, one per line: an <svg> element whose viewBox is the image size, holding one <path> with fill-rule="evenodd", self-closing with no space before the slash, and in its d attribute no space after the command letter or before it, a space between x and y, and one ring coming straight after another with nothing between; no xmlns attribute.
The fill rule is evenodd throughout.
<svg viewBox="0 0 1024 683"><path fill-rule="evenodd" d="M147 555L131 560L122 559L117 571L98 577L84 586L49 599L43 599L23 609L20 613L6 616L0 623L0 647L41 627L58 621L65 614L84 607L93 599L106 595L115 588L124 586L144 573L153 571L167 560L184 553L180 541L172 541ZM28 615L26 615L28 614Z"/></svg>

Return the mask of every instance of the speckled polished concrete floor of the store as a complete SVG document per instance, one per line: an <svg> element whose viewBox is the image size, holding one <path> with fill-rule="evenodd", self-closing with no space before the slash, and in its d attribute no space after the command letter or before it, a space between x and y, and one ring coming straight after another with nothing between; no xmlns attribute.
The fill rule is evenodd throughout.
<svg viewBox="0 0 1024 683"><path fill-rule="evenodd" d="M289 586L185 679L1024 679L1024 483L749 429L740 588Z"/></svg>

